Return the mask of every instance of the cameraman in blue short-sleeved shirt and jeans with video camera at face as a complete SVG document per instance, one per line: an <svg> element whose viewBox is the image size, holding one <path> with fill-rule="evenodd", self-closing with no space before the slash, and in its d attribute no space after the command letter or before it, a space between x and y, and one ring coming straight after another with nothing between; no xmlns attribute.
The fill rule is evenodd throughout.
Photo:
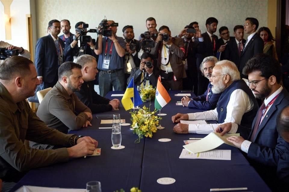
<svg viewBox="0 0 289 192"><path fill-rule="evenodd" d="M124 61L126 43L123 38L117 37L117 26L112 20L102 20L98 29L98 47L95 48L98 58L98 82L99 92L104 97L111 86L115 91L124 91L125 76L124 76ZM104 37L102 37L104 36Z"/></svg>

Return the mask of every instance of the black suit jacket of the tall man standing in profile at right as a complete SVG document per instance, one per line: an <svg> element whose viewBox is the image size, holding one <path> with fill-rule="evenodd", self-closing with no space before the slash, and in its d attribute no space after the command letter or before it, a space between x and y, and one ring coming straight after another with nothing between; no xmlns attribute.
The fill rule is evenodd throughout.
<svg viewBox="0 0 289 192"><path fill-rule="evenodd" d="M246 78L248 79L248 76L244 76L242 74L242 70L246 64L246 62L252 58L254 55L257 55L258 53L263 53L263 48L264 48L264 41L260 38L260 36L256 33L251 40L248 42L247 46L244 47L241 57L240 57L240 62L239 62L239 71L241 74L241 78Z"/></svg>

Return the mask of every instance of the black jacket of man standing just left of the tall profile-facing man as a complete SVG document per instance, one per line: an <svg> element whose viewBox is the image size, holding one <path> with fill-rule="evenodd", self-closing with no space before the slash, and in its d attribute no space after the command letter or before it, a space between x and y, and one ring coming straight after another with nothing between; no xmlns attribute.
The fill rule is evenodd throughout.
<svg viewBox="0 0 289 192"><path fill-rule="evenodd" d="M244 47L246 40L243 39L242 42L243 42L243 47ZM238 51L238 45L237 45L235 38L227 42L226 49L222 53L222 55L224 55L224 59L230 60L234 62L237 66L239 66L240 56L239 56L239 51Z"/></svg>

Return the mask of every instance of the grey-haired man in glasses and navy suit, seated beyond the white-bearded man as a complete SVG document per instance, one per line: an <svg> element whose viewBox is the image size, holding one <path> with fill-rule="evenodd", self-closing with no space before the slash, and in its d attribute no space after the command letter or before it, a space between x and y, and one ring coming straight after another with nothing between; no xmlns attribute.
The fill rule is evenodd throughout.
<svg viewBox="0 0 289 192"><path fill-rule="evenodd" d="M218 59L214 56L204 58L200 65L200 70L208 79L212 76L213 68L215 67ZM194 98L189 98L185 96L182 98L181 102L183 107L213 110L216 108L219 97L222 93L214 94L212 91L213 85L209 82L207 90L202 94Z"/></svg>

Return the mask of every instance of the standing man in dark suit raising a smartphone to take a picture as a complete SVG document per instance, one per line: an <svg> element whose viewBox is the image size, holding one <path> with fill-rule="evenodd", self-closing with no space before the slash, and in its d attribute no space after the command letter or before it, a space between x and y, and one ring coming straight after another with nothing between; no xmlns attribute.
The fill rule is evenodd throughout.
<svg viewBox="0 0 289 192"><path fill-rule="evenodd" d="M187 78L183 79L183 89L193 90L194 94L197 95L198 90L198 74L197 74L197 58L198 53L204 53L204 43L201 33L196 31L196 33L188 33L187 29L194 29L193 26L185 26L184 29L179 33L178 37L183 38L185 45L185 56L182 58L185 64L185 70ZM192 38L198 38L198 41L193 41Z"/></svg>

